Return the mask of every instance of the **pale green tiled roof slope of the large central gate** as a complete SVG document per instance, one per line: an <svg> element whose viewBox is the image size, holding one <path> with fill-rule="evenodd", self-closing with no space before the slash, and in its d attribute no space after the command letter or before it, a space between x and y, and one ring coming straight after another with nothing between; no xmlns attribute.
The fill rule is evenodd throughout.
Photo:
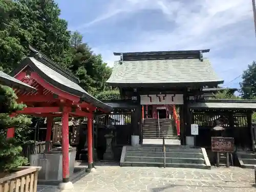
<svg viewBox="0 0 256 192"><path fill-rule="evenodd" d="M115 61L110 86L139 83L223 83L208 59Z"/></svg>

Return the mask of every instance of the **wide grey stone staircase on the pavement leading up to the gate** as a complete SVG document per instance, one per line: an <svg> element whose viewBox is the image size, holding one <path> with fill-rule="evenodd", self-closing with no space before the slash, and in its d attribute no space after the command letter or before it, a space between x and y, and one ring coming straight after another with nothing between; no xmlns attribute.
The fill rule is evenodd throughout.
<svg viewBox="0 0 256 192"><path fill-rule="evenodd" d="M166 167L210 169L205 148L166 145ZM123 146L120 166L163 167L164 154L161 145Z"/></svg>

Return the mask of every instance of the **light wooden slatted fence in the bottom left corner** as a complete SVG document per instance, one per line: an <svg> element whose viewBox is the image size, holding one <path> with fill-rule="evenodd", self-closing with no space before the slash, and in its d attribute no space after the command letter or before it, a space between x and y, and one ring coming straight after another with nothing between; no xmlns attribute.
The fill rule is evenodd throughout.
<svg viewBox="0 0 256 192"><path fill-rule="evenodd" d="M17 167L14 173L0 178L0 191L36 192L40 169L41 167Z"/></svg>

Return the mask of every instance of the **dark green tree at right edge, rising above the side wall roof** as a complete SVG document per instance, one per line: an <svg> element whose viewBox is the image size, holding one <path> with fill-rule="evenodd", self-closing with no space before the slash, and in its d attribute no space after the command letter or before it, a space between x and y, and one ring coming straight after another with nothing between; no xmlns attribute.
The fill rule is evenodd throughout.
<svg viewBox="0 0 256 192"><path fill-rule="evenodd" d="M242 74L240 92L244 99L256 97L256 62L253 61Z"/></svg>

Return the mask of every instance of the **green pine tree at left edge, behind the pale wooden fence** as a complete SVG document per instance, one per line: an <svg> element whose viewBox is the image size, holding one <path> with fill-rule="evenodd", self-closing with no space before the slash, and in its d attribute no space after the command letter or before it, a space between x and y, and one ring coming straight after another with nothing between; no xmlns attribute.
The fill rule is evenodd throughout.
<svg viewBox="0 0 256 192"><path fill-rule="evenodd" d="M0 173L7 172L11 168L21 166L28 162L28 159L20 156L22 145L26 141L26 129L31 119L25 115L10 117L10 114L22 110L26 105L16 102L16 95L12 88L0 86ZM15 127L15 138L6 139L7 129Z"/></svg>

